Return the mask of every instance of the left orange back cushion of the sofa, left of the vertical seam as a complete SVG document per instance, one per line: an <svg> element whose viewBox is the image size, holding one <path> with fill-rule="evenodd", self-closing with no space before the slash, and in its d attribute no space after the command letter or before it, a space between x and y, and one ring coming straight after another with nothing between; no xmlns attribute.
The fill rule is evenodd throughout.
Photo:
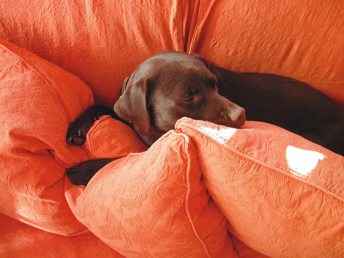
<svg viewBox="0 0 344 258"><path fill-rule="evenodd" d="M96 103L110 107L141 62L164 50L183 50L188 5L1 0L0 37L75 74L92 88Z"/></svg>

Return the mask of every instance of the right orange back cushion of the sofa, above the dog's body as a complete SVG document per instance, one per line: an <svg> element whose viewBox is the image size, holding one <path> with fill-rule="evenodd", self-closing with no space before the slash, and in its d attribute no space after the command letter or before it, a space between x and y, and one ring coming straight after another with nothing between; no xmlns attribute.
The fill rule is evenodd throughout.
<svg viewBox="0 0 344 258"><path fill-rule="evenodd" d="M344 104L342 1L199 1L187 53L301 80Z"/></svg>

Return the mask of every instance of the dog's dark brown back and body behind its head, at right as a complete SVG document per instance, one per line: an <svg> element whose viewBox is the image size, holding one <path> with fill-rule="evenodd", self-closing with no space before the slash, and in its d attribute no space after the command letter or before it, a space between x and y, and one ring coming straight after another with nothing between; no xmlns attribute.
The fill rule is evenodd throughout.
<svg viewBox="0 0 344 258"><path fill-rule="evenodd" d="M210 67L219 94L246 109L246 119L277 125L344 155L344 111L309 85L273 74Z"/></svg>

